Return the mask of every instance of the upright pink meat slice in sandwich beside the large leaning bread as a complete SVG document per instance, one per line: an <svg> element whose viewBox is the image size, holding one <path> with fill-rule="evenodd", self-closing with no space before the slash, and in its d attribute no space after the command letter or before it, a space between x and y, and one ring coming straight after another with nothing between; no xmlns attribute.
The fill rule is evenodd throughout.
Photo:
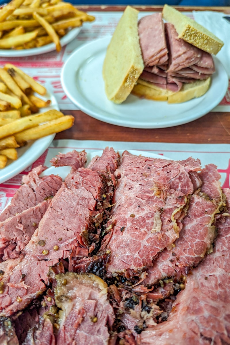
<svg viewBox="0 0 230 345"><path fill-rule="evenodd" d="M167 61L168 49L161 13L141 18L138 23L138 33L145 65L153 66Z"/></svg>

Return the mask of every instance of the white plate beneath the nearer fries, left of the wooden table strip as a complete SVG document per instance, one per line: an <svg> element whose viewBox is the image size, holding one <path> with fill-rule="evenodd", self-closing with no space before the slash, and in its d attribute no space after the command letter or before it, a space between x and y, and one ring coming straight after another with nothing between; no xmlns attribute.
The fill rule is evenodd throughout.
<svg viewBox="0 0 230 345"><path fill-rule="evenodd" d="M34 93L34 95L36 95L36 93ZM40 109L40 112L44 112L50 109L59 110L57 100L51 93L47 91L45 96L38 96L44 100L51 100L50 106ZM20 172L22 172L33 162L35 162L49 147L54 137L55 134L52 134L38 140L31 140L26 146L18 148L18 159L14 161L9 159L7 162L7 166L3 169L0 169L0 184L20 174Z"/></svg>

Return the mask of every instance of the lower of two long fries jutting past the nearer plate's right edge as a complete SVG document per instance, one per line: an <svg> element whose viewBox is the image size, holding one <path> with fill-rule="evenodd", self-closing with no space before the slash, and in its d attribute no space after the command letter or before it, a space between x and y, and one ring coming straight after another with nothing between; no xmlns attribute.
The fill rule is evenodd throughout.
<svg viewBox="0 0 230 345"><path fill-rule="evenodd" d="M65 115L59 119L47 122L47 124L36 126L20 133L15 134L15 139L18 143L28 140L35 140L43 138L50 134L55 134L72 127L74 117Z"/></svg>

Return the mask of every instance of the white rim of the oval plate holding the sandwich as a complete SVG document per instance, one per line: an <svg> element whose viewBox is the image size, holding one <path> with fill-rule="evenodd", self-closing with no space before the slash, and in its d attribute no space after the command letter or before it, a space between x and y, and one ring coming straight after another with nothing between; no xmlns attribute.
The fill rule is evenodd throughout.
<svg viewBox="0 0 230 345"><path fill-rule="evenodd" d="M63 90L64 92L66 93L67 97L71 100L71 102L76 105L80 110L82 110L83 112L85 112L86 114L88 114L89 116L93 117L93 118L96 118L100 121L103 121L103 122L106 122L106 123L109 123L109 124L112 124L112 125L117 125L117 126L121 126L121 127L128 127L128 128L142 128L142 129L147 129L147 128L168 128L168 127L174 127L174 126L179 126L179 125L183 125L183 124L186 124L186 123L189 123L191 121L194 121L194 120L197 120L198 118L208 114L209 111L211 111L214 107L216 107L219 102L223 99L227 89L228 89L228 76L227 76L227 73L226 73L226 70L224 68L224 66L222 65L221 61L216 58L216 57L213 57L214 61L216 62L217 66L219 69L221 69L223 72L223 78L224 78L224 83L222 83L222 85L224 87L221 87L220 90L222 91L219 95L219 97L217 99L215 99L215 102L214 104L213 103L209 103L209 107L206 106L206 109L205 111L202 111L201 113L199 112L195 115L192 116L191 118L191 115L189 118L186 118L184 119L184 117L182 117L181 119L176 119L174 121L170 121L170 122L159 122L159 121L156 121L156 122L150 122L148 121L147 124L141 124L140 122L139 123L130 123L130 121L122 121L118 123L118 120L117 119L113 119L112 118L112 115L111 112L108 112L108 114L111 115L111 117L107 116L106 118L103 117L103 115L100 114L100 110L99 111L92 111L91 109L89 109L89 107L87 108L85 104L82 105L81 103L81 98L80 99L76 99L72 96L72 93L71 91L69 90L68 88L68 83L66 83L65 81L65 74L66 74L66 71L68 69L68 66L71 66L70 63L72 63L72 61L74 60L74 66L76 65L78 68L77 70L74 70L74 76L76 75L77 71L79 70L79 66L81 65L82 61L81 61L81 56L83 56L84 54L82 54L84 52L84 50L89 50L89 47L91 48L91 52L88 52L87 55L84 55L84 60L87 60L88 58L91 58L93 57L95 54L96 54L96 51L103 51L106 49L106 47L108 46L108 43L110 42L111 40L111 36L106 36L104 38L100 38L100 39L97 39L97 40L93 40L93 41L90 41L90 42L86 42L84 45L81 45L80 47L78 47L77 49L75 49L71 55L68 57L67 61L64 63L64 66L62 68L62 71L61 71L61 83L62 83L62 87L63 87ZM94 47L94 48L93 48ZM87 52L86 52L87 53ZM77 58L75 58L77 55ZM78 63L77 62L77 59L78 57L80 56L80 62ZM75 59L74 59L75 58ZM70 83L69 83L70 85ZM71 84L72 85L72 84ZM76 88L77 89L77 88ZM208 90L208 94L204 94L203 96L201 97L207 97L209 96L210 94L210 90L212 90L212 85L211 87L209 88ZM224 90L224 91L223 91ZM103 91L104 92L104 91ZM201 98L199 97L199 98ZM198 99L199 99L198 98ZM84 100L86 100L86 98L84 98ZM188 102L191 102L193 101L194 99L188 101ZM150 101L150 102L154 102L154 101L151 101L151 100L146 100L146 101ZM155 101L157 102L157 101ZM159 102L157 102L159 104ZM184 102L185 103L185 102ZM180 103L180 104L172 104L170 106L181 106L183 103ZM199 103L200 105L200 103ZM197 106L199 106L197 105ZM122 105L119 105L119 106L122 106ZM194 108L197 109L197 106L195 106ZM193 108L193 106L191 105L191 108ZM98 109L98 108L96 108Z"/></svg>

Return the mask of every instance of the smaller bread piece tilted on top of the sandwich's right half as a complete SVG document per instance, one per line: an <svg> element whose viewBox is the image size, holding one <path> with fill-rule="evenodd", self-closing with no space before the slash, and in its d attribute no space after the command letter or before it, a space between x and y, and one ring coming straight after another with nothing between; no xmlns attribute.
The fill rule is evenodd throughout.
<svg viewBox="0 0 230 345"><path fill-rule="evenodd" d="M178 38L214 55L223 47L224 43L212 32L175 8L165 4L162 13L163 18L174 25Z"/></svg>

